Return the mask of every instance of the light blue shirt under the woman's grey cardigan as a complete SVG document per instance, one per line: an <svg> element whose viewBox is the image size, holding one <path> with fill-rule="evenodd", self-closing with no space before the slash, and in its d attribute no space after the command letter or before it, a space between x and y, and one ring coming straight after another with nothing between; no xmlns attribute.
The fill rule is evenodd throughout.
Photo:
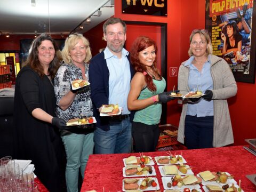
<svg viewBox="0 0 256 192"><path fill-rule="evenodd" d="M185 66L189 66L188 86L190 91L201 90L204 93L206 90L213 89L213 81L211 75L210 58L204 63L203 69L200 71L192 64L194 57L190 57ZM205 117L213 116L213 100L206 101L201 99L195 104L188 104L187 115Z"/></svg>

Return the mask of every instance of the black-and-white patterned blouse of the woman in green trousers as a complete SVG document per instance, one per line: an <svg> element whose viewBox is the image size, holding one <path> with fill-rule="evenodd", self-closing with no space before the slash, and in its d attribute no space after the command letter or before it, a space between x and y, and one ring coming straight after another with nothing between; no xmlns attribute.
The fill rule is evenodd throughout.
<svg viewBox="0 0 256 192"><path fill-rule="evenodd" d="M85 63L85 77L89 81L89 64ZM59 106L60 99L71 90L71 81L83 79L82 71L74 64L64 63L54 78L54 91ZM78 90L73 103L66 110L57 107L56 114L65 121L76 117L93 116L90 86ZM90 124L91 125L91 124Z"/></svg>

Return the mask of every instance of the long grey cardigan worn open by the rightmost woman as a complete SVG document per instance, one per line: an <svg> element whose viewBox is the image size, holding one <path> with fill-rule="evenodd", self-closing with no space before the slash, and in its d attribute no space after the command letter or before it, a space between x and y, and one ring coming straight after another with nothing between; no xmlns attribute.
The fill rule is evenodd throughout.
<svg viewBox="0 0 256 192"><path fill-rule="evenodd" d="M178 75L178 89L181 94L189 92L189 67L181 63ZM227 62L220 57L210 55L211 75L213 80L213 147L222 147L234 143L233 131L230 121L227 99L236 95L237 85L233 73ZM183 104L180 117L178 141L184 143L185 117L188 103Z"/></svg>

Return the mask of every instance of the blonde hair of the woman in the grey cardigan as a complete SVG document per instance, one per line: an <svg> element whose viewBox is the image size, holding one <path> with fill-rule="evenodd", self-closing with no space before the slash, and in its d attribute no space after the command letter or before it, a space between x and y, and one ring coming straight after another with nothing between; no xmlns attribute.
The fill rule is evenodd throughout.
<svg viewBox="0 0 256 192"><path fill-rule="evenodd" d="M206 29L195 29L195 30L193 30L190 37L189 37L189 44L191 44L192 39L193 39L194 35L196 35L196 34L199 34L201 36L201 38L205 38L206 43L207 43L206 54L207 55L212 54L211 38L210 38L210 36L208 34L208 31ZM194 55L192 50L191 50L191 47L189 47L188 55L189 55L189 57Z"/></svg>

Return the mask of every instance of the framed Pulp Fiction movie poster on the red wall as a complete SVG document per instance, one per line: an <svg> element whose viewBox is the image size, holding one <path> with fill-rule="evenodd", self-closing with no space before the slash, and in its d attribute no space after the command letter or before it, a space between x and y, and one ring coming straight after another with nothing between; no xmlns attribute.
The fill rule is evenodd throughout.
<svg viewBox="0 0 256 192"><path fill-rule="evenodd" d="M205 29L213 54L225 59L238 82L255 81L256 0L206 0Z"/></svg>

